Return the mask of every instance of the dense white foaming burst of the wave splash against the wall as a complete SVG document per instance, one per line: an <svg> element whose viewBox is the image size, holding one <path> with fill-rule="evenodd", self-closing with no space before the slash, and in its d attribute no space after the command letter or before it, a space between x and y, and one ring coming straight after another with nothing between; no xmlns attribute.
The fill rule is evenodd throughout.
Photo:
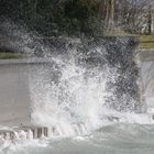
<svg viewBox="0 0 154 154"><path fill-rule="evenodd" d="M132 121L133 118L128 118L131 113L123 117L110 109L112 106L133 113L135 100L123 95L121 98L125 109L114 100L116 88L107 90L107 87L120 78L119 70L107 62L102 63L102 59L95 59L92 55L101 52L102 55L97 56L103 57L106 53L105 48L96 50L86 54L85 58L89 61L87 63L80 62L82 55L78 55L74 46L66 47L66 55L53 54L51 62L30 68L31 118L34 124L53 128L53 135L75 136L89 134L106 125L107 121ZM113 105L108 102L110 97ZM124 102L128 98L129 103Z"/></svg>

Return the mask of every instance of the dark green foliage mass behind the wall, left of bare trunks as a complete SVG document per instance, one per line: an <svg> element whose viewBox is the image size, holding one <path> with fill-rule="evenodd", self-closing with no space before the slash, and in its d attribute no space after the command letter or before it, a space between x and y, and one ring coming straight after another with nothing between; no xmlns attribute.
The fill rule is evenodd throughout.
<svg viewBox="0 0 154 154"><path fill-rule="evenodd" d="M101 35L97 0L2 0L0 15L43 35ZM10 13L11 12L11 13Z"/></svg>

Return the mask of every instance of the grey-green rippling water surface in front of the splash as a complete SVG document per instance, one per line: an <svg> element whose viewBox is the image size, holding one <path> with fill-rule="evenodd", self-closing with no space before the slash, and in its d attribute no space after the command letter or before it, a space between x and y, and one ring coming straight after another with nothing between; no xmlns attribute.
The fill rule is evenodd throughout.
<svg viewBox="0 0 154 154"><path fill-rule="evenodd" d="M117 123L85 136L40 139L1 148L1 154L153 154L154 127Z"/></svg>

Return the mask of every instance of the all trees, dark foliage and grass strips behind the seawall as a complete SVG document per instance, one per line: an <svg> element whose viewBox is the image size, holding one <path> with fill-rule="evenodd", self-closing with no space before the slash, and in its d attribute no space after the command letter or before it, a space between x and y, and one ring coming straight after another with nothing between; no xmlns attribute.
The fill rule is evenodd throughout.
<svg viewBox="0 0 154 154"><path fill-rule="evenodd" d="M148 11L150 3L145 4L142 1L131 3L128 0L119 3L121 3L119 0L2 1L0 24L8 21L13 22L19 28L26 28L29 32L36 32L41 36L40 40L61 35L85 38L135 36L140 41L139 50L154 48L154 35L151 35L152 14ZM143 4L144 11L142 10ZM139 19L143 19L143 21L139 21ZM142 25L145 24L144 21L147 28L141 34ZM140 25L141 23L142 25ZM7 35L1 26L0 31L2 35ZM12 31L12 33L14 32ZM24 56L20 52L15 53L15 51L12 53L0 51L0 59L22 58Z"/></svg>

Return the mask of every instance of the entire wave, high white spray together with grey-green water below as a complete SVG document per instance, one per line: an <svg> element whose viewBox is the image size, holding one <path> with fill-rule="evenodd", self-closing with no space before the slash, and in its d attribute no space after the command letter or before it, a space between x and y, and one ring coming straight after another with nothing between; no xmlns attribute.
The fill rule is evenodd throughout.
<svg viewBox="0 0 154 154"><path fill-rule="evenodd" d="M153 119L141 113L134 44L100 40L54 40L45 47L47 63L29 68L31 118L53 131L38 140L1 140L0 154L153 154ZM29 53L44 50L21 41Z"/></svg>

